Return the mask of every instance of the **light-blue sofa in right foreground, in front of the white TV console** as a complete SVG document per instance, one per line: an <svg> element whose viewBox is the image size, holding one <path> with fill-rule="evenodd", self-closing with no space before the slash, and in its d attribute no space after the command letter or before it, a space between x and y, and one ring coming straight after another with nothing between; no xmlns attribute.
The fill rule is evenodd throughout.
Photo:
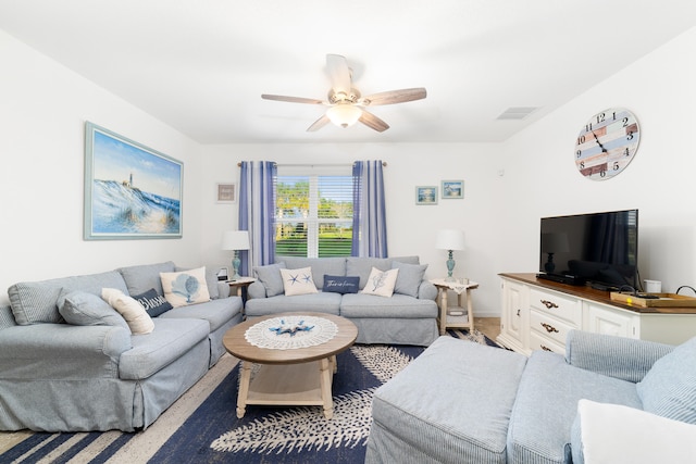
<svg viewBox="0 0 696 464"><path fill-rule="evenodd" d="M372 415L371 464L692 462L696 338L675 348L570 331L566 358L527 360L440 337L375 391Z"/></svg>

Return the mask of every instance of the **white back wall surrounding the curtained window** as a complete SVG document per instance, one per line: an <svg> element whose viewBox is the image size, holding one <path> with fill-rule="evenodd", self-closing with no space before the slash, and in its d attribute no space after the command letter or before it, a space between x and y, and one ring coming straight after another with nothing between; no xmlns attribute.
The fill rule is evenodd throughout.
<svg viewBox="0 0 696 464"><path fill-rule="evenodd" d="M220 250L223 230L237 227L237 204L217 204L219 181L239 181L240 161L266 160L278 164L336 163L382 160L385 167L388 252L391 256L417 254L428 264L428 278L444 277L447 253L435 249L440 228L461 228L467 250L455 253L456 276L481 284L474 291L477 314L496 315L498 279L494 263L502 240L499 208L502 177L498 176L498 145L473 143L321 143L235 145L204 147L203 262L229 266L231 253ZM440 186L445 179L464 180L463 200L443 200L437 205L415 205L415 186Z"/></svg>

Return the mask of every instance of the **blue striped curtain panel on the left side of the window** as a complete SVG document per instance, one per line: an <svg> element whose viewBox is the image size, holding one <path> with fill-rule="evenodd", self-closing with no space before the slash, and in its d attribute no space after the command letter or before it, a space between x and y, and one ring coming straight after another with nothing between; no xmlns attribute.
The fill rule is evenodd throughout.
<svg viewBox="0 0 696 464"><path fill-rule="evenodd" d="M275 178L271 161L243 161L239 178L239 230L249 230L249 250L241 251L240 274L275 260Z"/></svg>

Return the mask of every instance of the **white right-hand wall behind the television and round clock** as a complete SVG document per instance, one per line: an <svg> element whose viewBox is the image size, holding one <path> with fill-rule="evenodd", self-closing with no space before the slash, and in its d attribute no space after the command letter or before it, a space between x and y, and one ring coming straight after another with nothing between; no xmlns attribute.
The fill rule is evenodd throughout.
<svg viewBox="0 0 696 464"><path fill-rule="evenodd" d="M662 280L663 291L696 287L694 49L696 28L504 145L504 227L514 239L505 241L498 271L536 271L542 216L638 208L642 278ZM641 145L621 174L588 180L575 168L574 142L585 122L609 106L634 112Z"/></svg>

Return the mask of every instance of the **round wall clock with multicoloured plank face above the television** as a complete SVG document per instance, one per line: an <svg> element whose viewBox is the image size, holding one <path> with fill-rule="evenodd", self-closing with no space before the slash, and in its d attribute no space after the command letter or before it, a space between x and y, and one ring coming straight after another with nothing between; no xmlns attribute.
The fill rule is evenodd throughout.
<svg viewBox="0 0 696 464"><path fill-rule="evenodd" d="M601 111L577 135L577 171L593 180L610 179L631 163L639 141L638 120L633 113L622 108Z"/></svg>

